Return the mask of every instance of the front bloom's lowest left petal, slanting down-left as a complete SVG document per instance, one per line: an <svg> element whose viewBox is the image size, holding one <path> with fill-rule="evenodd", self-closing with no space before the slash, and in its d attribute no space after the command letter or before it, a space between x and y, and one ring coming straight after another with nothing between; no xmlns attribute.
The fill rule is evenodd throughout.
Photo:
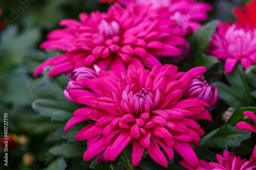
<svg viewBox="0 0 256 170"><path fill-rule="evenodd" d="M96 143L94 143L92 147L90 147L86 151L86 153L84 153L83 160L89 161L90 159L92 159L93 157L95 157L97 154L104 151L105 149L106 147L104 145L104 138L102 137Z"/></svg>

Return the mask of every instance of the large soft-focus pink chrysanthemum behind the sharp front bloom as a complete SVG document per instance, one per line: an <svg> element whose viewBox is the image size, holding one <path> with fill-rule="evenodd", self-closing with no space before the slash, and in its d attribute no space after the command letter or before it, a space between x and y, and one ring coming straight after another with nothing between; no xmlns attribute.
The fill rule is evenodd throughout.
<svg viewBox="0 0 256 170"><path fill-rule="evenodd" d="M125 72L130 64L150 69L162 66L155 56L179 56L177 46L186 44L169 16L166 8L151 10L150 5L135 4L122 8L116 3L107 13L81 13L81 21L62 20L60 26L67 27L49 33L41 48L66 53L39 65L34 76L49 65L54 66L49 76L93 64L119 72Z"/></svg>

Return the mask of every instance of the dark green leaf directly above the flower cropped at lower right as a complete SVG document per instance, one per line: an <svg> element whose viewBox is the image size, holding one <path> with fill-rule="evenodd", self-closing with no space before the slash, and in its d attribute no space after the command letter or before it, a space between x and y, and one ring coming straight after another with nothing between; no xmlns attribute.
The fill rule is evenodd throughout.
<svg viewBox="0 0 256 170"><path fill-rule="evenodd" d="M195 150L199 159L212 160L217 154L212 150L237 148L242 141L250 138L250 131L237 129L230 126L229 123L230 119L221 128L210 132L201 139L199 148Z"/></svg>

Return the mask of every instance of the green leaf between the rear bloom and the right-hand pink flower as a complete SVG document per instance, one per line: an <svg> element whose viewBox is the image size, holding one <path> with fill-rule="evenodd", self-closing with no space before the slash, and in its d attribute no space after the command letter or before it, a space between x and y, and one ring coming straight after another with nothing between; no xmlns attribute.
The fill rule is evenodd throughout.
<svg viewBox="0 0 256 170"><path fill-rule="evenodd" d="M197 29L197 31L189 37L188 42L191 48L192 67L205 66L210 68L215 64L216 58L212 56L206 56L204 54L212 34L214 34L217 28L218 20L212 20L208 22L203 28Z"/></svg>

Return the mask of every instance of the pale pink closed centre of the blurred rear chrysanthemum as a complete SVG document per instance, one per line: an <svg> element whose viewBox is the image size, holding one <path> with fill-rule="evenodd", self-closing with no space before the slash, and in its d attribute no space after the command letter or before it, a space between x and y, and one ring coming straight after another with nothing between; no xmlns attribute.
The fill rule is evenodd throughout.
<svg viewBox="0 0 256 170"><path fill-rule="evenodd" d="M115 35L120 34L120 26L116 21L108 22L106 20L101 20L98 25L98 32L103 34L105 38L112 38Z"/></svg>

